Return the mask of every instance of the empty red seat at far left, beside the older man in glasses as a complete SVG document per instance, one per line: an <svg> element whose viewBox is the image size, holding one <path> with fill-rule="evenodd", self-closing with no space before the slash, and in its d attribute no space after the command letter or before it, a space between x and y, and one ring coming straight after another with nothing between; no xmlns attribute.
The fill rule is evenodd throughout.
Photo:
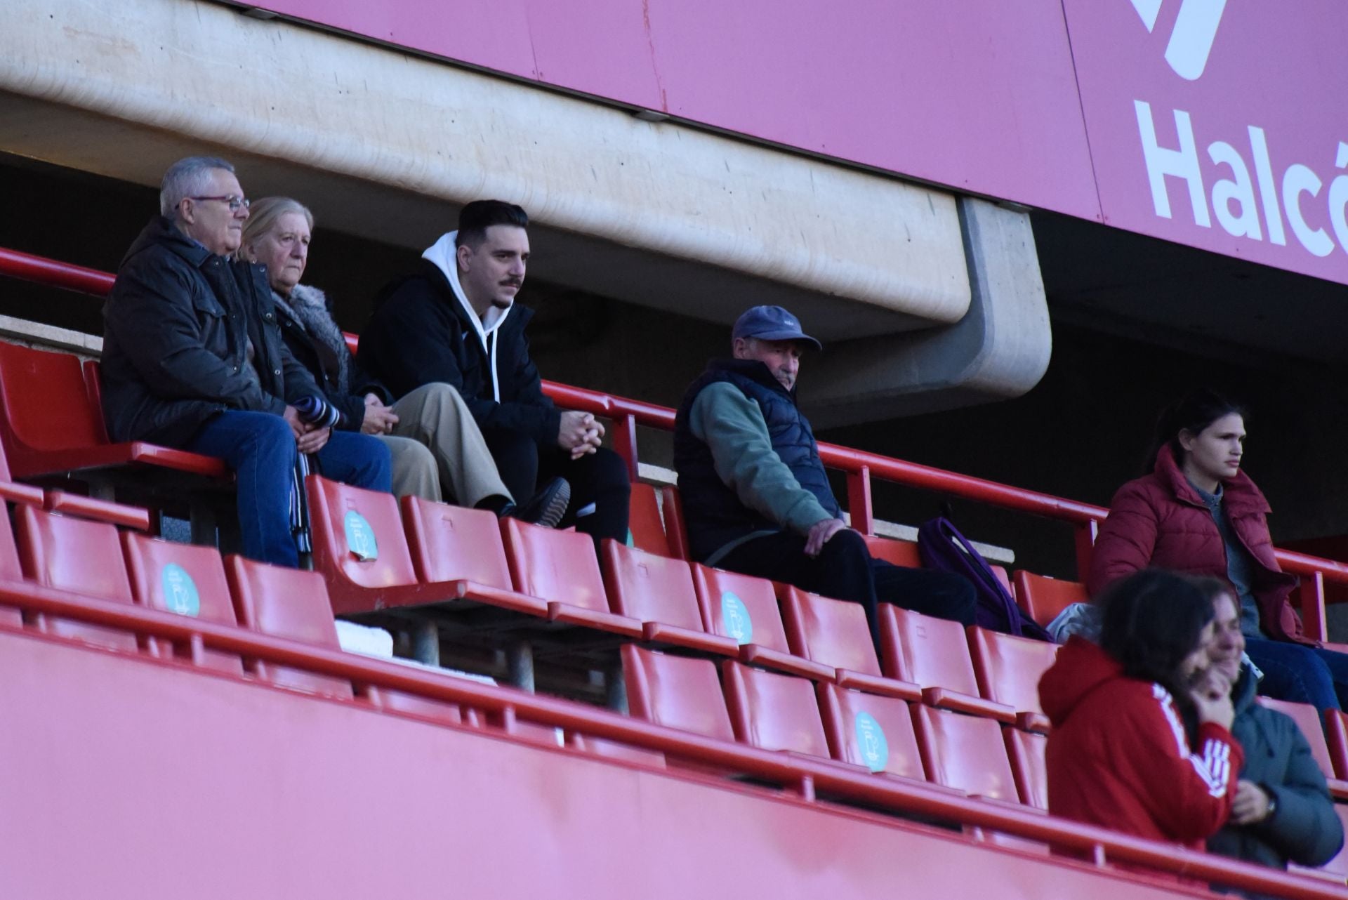
<svg viewBox="0 0 1348 900"><path fill-rule="evenodd" d="M96 385L96 364L82 368L69 353L0 344L0 443L18 477L128 463L229 477L212 457L140 441L111 443Z"/></svg>

